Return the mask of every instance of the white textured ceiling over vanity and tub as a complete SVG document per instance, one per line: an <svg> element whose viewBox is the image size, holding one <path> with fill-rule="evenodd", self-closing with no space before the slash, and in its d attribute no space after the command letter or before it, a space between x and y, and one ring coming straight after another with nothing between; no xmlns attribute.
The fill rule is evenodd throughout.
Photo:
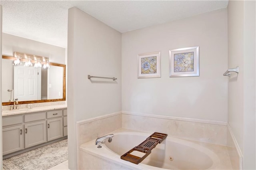
<svg viewBox="0 0 256 170"><path fill-rule="evenodd" d="M228 1L1 0L0 4L4 33L66 48L68 9L74 6L124 33L226 8Z"/></svg>

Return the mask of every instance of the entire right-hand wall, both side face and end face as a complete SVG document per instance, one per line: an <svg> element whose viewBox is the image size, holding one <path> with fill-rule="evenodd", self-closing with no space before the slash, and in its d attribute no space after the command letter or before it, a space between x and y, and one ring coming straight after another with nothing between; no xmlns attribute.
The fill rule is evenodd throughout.
<svg viewBox="0 0 256 170"><path fill-rule="evenodd" d="M255 1L228 3L228 123L243 155L243 168L256 169Z"/></svg>

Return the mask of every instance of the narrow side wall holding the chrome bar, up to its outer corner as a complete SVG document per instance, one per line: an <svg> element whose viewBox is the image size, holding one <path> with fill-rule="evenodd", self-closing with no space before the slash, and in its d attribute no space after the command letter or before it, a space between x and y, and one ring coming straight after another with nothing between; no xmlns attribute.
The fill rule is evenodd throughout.
<svg viewBox="0 0 256 170"><path fill-rule="evenodd" d="M228 123L243 152L244 131L244 3L228 3L228 67L239 66L239 74L232 73L228 81Z"/></svg>

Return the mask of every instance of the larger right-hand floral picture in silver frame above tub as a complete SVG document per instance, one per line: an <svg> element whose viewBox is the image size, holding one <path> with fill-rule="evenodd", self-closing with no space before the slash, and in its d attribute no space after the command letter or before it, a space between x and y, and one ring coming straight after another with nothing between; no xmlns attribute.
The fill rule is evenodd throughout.
<svg viewBox="0 0 256 170"><path fill-rule="evenodd" d="M169 50L170 77L199 76L199 46Z"/></svg>

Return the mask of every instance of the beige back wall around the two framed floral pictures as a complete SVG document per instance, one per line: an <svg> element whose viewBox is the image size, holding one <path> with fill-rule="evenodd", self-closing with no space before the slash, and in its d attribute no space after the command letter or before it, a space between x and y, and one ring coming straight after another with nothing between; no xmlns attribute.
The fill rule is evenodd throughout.
<svg viewBox="0 0 256 170"><path fill-rule="evenodd" d="M227 10L122 34L122 111L227 121ZM169 77L169 50L199 46L200 76ZM137 78L139 53L161 51L161 78Z"/></svg>

